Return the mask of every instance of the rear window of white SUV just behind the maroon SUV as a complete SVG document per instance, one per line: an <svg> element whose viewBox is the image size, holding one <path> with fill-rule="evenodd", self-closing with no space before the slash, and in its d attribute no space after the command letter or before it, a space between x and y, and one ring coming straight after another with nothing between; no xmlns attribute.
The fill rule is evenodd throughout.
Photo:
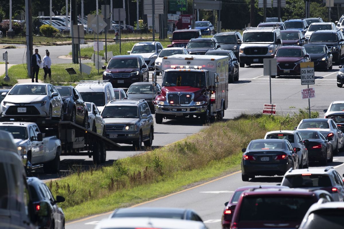
<svg viewBox="0 0 344 229"><path fill-rule="evenodd" d="M283 185L290 188L311 188L330 187L332 183L330 177L327 175L311 174L309 172L286 176Z"/></svg>

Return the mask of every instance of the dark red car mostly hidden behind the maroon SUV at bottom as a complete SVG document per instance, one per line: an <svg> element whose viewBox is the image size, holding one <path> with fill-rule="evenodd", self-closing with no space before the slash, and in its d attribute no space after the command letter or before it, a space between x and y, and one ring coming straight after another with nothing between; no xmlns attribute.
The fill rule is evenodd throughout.
<svg viewBox="0 0 344 229"><path fill-rule="evenodd" d="M267 189L267 188L289 188L287 186L276 186L276 185L252 185L252 186L244 186L244 187L239 187L235 190L233 195L230 197L229 201L225 203L225 209L223 210L222 213L222 218L221 218L221 225L222 228L230 228L230 223L232 222L232 217L235 211L235 207L238 203L238 200L243 194L244 191L247 190L253 190L256 188L262 188L262 189Z"/></svg>

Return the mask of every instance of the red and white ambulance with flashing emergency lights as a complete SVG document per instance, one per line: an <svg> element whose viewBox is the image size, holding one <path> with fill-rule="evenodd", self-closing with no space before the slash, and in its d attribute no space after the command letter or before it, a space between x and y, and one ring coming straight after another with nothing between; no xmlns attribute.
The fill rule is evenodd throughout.
<svg viewBox="0 0 344 229"><path fill-rule="evenodd" d="M228 107L228 61L227 56L164 57L162 89L154 101L156 123L182 117L200 117L202 123L221 120Z"/></svg>

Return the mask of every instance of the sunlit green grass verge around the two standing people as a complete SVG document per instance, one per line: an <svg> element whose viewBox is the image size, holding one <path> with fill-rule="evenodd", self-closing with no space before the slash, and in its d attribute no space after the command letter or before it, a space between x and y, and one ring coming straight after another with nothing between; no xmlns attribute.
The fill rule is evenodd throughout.
<svg viewBox="0 0 344 229"><path fill-rule="evenodd" d="M97 80L101 79L101 74L103 73L103 70L98 70L95 68L93 63L86 63L86 65L91 66L92 70L90 75L86 75L83 73L80 75L78 69L78 64L54 64L51 66L51 81L49 80L49 76L47 76L47 82L50 82L54 85L61 85L63 82L67 83L68 85L74 82L78 82L80 80ZM75 75L69 75L68 72L65 70L65 68L74 68L77 74ZM8 70L8 76L10 77L9 82L4 82L2 75L2 78L0 78L0 85L8 85L13 86L14 84L18 83L17 79L28 79L31 77L28 77L28 72L26 69L26 65L14 65L9 68ZM38 78L43 81L44 76L44 70L40 69Z"/></svg>

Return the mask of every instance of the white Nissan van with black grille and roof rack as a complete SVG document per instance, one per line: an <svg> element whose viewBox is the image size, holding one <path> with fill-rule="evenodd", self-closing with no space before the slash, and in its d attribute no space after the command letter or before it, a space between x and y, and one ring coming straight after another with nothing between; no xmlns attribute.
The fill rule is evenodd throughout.
<svg viewBox="0 0 344 229"><path fill-rule="evenodd" d="M243 41L239 49L240 67L251 64L263 64L263 59L273 58L282 46L279 28L250 27L243 32Z"/></svg>

